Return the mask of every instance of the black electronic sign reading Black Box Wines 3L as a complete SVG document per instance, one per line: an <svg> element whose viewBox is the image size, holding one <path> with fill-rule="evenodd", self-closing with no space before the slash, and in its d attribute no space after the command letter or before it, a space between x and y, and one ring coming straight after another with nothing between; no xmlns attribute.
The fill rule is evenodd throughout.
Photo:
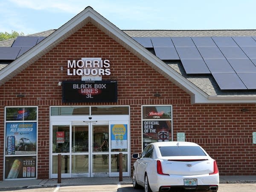
<svg viewBox="0 0 256 192"><path fill-rule="evenodd" d="M117 81L63 81L63 102L117 102Z"/></svg>

